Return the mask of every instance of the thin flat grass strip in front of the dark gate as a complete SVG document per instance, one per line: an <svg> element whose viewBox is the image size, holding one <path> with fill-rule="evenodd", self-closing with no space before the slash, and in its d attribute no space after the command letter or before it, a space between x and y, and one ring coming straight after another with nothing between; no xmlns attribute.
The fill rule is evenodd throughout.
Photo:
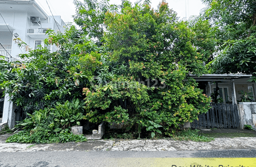
<svg viewBox="0 0 256 167"><path fill-rule="evenodd" d="M210 137L210 138L256 137L255 133L246 133L246 132L241 132L241 133L205 133L205 134L201 134L201 135L205 136L205 137Z"/></svg>

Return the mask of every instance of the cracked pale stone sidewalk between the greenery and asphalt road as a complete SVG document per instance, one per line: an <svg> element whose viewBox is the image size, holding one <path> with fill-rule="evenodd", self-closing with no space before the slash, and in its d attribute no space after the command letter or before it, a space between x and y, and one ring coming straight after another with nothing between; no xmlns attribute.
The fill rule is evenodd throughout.
<svg viewBox="0 0 256 167"><path fill-rule="evenodd" d="M256 138L216 138L211 142L159 140L89 140L59 144L5 143L11 134L0 136L0 152L27 151L184 151L256 149Z"/></svg>

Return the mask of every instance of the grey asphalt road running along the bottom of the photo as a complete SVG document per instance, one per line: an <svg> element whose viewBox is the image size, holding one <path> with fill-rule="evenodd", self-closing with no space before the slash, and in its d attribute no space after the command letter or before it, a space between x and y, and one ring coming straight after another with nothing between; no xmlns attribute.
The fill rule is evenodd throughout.
<svg viewBox="0 0 256 167"><path fill-rule="evenodd" d="M189 161L189 163L196 161L197 163L192 163L195 165L200 164L199 161L202 163L206 161L208 163L218 162L219 164L229 161L231 164L231 162L238 160L239 162L254 161L255 166L249 167L256 167L256 158L254 158L256 157L256 150L33 151L5 152L0 153L0 157L0 167L178 167L178 165L173 164L185 161ZM240 157L244 157L244 159L240 159ZM201 167L207 167L207 165Z"/></svg>

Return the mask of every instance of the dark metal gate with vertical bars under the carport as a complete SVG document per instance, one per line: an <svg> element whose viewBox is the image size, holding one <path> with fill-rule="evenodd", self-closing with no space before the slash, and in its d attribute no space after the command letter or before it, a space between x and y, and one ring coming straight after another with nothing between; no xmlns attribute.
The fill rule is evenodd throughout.
<svg viewBox="0 0 256 167"><path fill-rule="evenodd" d="M238 108L234 104L211 103L207 113L191 123L192 128L239 128Z"/></svg>

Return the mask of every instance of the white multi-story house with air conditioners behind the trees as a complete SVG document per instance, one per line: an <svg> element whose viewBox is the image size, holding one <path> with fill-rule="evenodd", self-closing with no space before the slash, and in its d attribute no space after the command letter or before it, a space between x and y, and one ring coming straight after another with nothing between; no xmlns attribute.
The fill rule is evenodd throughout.
<svg viewBox="0 0 256 167"><path fill-rule="evenodd" d="M48 16L35 0L0 0L0 14L0 55L5 56L7 61L19 60L18 55L26 53L18 47L14 38L19 37L32 49L36 49L38 45L46 46L43 40L47 38L47 29L63 32L66 25L61 16ZM48 48L51 51L57 50L55 46ZM3 91L0 89L0 118L2 124L8 122L12 128L20 116L8 95L2 97Z"/></svg>

